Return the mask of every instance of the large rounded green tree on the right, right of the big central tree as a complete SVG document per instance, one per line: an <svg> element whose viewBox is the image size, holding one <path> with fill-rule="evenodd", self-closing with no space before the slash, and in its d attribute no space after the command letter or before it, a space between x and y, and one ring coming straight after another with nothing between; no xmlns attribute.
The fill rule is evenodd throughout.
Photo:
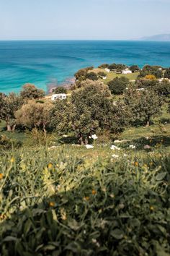
<svg viewBox="0 0 170 256"><path fill-rule="evenodd" d="M144 125L149 125L151 117L160 114L163 104L158 93L149 89L138 90L135 86L130 86L126 90L124 101L130 111L132 124Z"/></svg>

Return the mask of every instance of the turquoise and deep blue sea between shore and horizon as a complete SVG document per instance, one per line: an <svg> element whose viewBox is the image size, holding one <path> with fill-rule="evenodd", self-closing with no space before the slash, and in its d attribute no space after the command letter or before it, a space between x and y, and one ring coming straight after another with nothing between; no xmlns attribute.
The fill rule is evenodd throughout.
<svg viewBox="0 0 170 256"><path fill-rule="evenodd" d="M78 69L113 62L170 67L170 42L0 41L0 92L19 92L27 82L47 91Z"/></svg>

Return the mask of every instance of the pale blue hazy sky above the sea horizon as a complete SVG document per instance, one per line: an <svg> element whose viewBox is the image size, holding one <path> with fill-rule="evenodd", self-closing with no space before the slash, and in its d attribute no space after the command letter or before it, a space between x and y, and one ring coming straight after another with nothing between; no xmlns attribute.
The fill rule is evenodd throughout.
<svg viewBox="0 0 170 256"><path fill-rule="evenodd" d="M170 33L170 0L0 0L0 40Z"/></svg>

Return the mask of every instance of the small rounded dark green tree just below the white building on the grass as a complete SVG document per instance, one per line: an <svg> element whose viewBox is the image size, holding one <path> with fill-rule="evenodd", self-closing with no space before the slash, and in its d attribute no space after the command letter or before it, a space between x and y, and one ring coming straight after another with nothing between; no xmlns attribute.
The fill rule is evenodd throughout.
<svg viewBox="0 0 170 256"><path fill-rule="evenodd" d="M122 94L125 88L129 85L129 80L127 77L115 77L113 80L107 82L109 90L112 94Z"/></svg>

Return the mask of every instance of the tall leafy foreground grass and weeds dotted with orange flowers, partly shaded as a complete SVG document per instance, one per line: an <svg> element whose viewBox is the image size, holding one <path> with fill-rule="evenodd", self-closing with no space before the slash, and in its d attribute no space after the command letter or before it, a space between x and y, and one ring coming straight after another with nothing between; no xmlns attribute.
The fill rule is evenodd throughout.
<svg viewBox="0 0 170 256"><path fill-rule="evenodd" d="M168 255L167 150L97 161L74 151L1 158L1 255Z"/></svg>

